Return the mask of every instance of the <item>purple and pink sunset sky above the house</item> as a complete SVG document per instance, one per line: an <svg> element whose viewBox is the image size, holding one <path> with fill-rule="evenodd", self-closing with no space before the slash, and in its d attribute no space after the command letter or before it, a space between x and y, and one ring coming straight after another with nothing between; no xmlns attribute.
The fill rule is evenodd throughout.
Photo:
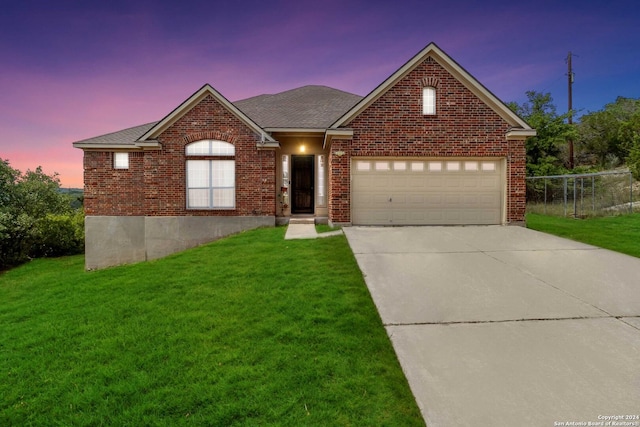
<svg viewBox="0 0 640 427"><path fill-rule="evenodd" d="M307 84L366 95L435 42L505 102L640 97L640 3L31 1L0 12L0 158L82 187L72 142L160 120L204 83L231 101Z"/></svg>

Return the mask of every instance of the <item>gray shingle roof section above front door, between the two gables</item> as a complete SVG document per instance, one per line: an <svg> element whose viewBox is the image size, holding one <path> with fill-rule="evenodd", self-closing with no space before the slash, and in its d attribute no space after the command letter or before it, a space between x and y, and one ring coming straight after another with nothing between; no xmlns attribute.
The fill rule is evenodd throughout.
<svg viewBox="0 0 640 427"><path fill-rule="evenodd" d="M327 128L361 96L327 86L303 86L233 104L263 128Z"/></svg>

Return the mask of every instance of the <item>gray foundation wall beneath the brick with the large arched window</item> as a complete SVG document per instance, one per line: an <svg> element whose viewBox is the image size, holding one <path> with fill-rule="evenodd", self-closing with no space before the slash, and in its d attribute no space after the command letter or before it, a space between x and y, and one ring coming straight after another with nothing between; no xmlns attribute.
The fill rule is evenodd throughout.
<svg viewBox="0 0 640 427"><path fill-rule="evenodd" d="M230 234L273 226L274 216L87 216L85 267L96 270L157 259Z"/></svg>

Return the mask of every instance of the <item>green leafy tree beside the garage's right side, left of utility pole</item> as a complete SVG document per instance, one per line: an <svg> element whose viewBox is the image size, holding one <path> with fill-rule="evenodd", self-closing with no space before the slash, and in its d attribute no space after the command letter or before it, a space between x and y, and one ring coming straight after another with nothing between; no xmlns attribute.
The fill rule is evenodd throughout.
<svg viewBox="0 0 640 427"><path fill-rule="evenodd" d="M568 114L558 115L550 93L526 92L528 100L522 105L510 103L509 107L522 117L537 135L528 138L527 175L557 175L566 172L561 159L567 140L577 136L573 126L565 120Z"/></svg>

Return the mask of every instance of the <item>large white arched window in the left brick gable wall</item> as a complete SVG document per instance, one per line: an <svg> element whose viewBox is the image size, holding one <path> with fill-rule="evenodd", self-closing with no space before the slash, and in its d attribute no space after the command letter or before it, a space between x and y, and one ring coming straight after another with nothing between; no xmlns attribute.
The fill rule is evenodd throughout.
<svg viewBox="0 0 640 427"><path fill-rule="evenodd" d="M234 209L236 161L233 144L214 139L196 141L187 144L185 154L187 209Z"/></svg>

